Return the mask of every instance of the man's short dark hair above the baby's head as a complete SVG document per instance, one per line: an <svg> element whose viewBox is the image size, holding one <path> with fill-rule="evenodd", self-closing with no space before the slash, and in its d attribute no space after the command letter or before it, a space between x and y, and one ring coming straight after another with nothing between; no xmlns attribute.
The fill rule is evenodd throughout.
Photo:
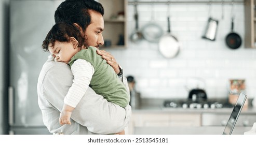
<svg viewBox="0 0 256 145"><path fill-rule="evenodd" d="M102 16L104 15L103 6L95 0L66 0L55 11L55 22L77 23L85 31L91 23L88 10L95 10L101 13Z"/></svg>

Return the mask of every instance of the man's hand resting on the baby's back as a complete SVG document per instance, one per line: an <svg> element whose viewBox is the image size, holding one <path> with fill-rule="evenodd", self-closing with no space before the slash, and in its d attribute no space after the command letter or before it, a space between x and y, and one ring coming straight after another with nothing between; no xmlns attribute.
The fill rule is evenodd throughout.
<svg viewBox="0 0 256 145"><path fill-rule="evenodd" d="M111 55L109 52L106 52L105 50L97 50L97 53L101 55L102 59L106 60L107 64L113 67L116 74L119 74L120 68L116 63L116 59L113 57L113 55Z"/></svg>

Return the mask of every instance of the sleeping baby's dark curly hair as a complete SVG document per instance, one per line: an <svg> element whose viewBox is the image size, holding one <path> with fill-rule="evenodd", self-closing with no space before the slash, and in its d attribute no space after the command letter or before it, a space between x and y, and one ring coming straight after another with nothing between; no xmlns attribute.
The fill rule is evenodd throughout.
<svg viewBox="0 0 256 145"><path fill-rule="evenodd" d="M76 26L69 22L58 22L52 26L47 34L43 41L42 48L44 51L49 52L49 44L52 44L52 47L54 47L56 40L60 42L69 42L70 37L76 38L78 47L85 45L85 38L82 37Z"/></svg>

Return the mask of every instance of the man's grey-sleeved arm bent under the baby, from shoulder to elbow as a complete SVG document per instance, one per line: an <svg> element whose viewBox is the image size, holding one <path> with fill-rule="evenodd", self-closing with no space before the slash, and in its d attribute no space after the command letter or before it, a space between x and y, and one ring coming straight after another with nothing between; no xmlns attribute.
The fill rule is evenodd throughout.
<svg viewBox="0 0 256 145"><path fill-rule="evenodd" d="M64 63L48 63L51 63L48 65L55 66L46 72L42 81L44 97L60 111L64 96L72 85L73 75L69 66ZM109 103L91 88L88 88L88 91L73 111L71 118L86 126L93 133L112 134L120 132L128 125L130 115L130 106L124 109Z"/></svg>

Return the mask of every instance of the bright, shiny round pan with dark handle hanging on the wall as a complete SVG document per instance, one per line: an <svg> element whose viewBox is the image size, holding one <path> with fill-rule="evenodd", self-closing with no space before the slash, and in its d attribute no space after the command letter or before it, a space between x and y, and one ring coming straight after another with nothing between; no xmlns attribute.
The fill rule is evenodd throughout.
<svg viewBox="0 0 256 145"><path fill-rule="evenodd" d="M175 57L180 51L180 44L176 37L171 35L170 28L170 16L167 18L168 21L168 34L164 35L159 39L158 49L161 54L166 58L171 59Z"/></svg>

